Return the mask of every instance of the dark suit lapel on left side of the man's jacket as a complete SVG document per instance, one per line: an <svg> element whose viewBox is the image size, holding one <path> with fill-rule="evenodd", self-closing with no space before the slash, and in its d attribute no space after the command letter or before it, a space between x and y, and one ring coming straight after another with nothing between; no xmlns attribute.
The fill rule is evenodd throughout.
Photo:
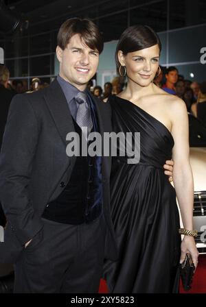
<svg viewBox="0 0 206 307"><path fill-rule="evenodd" d="M51 86L49 86L45 94L45 101L52 114L57 130L63 142L67 145L66 136L68 132L75 132L75 128L73 126L67 99L57 80L52 82Z"/></svg>

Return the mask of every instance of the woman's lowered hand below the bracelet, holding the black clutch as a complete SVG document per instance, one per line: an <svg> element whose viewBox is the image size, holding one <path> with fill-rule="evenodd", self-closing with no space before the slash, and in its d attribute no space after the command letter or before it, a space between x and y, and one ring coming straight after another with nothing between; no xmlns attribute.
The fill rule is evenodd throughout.
<svg viewBox="0 0 206 307"><path fill-rule="evenodd" d="M195 245L193 236L184 236L181 243L181 258L180 263L185 260L186 254L189 253L192 256L192 261L194 262L195 269L198 265L198 250Z"/></svg>

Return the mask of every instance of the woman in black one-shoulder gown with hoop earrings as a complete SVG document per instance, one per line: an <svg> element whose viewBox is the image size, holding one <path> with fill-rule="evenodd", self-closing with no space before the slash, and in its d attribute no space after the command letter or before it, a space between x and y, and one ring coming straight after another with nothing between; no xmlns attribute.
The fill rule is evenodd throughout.
<svg viewBox="0 0 206 307"><path fill-rule="evenodd" d="M160 51L157 34L141 25L126 29L117 45L117 68L128 84L108 99L113 131L140 132L140 160L113 158L111 214L119 260L104 266L111 293L177 293L180 260L190 252L197 265L194 237L185 235L181 243L176 206L177 196L184 228L192 230L187 110L181 99L152 83ZM170 158L176 191L163 173Z"/></svg>

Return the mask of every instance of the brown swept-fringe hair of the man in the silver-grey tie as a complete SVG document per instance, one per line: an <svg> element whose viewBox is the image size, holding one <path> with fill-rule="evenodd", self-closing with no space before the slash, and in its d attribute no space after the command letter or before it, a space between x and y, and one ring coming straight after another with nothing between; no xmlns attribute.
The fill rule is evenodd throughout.
<svg viewBox="0 0 206 307"><path fill-rule="evenodd" d="M79 34L89 48L102 52L104 47L102 35L98 27L89 19L72 18L62 23L57 35L57 45L65 50L69 40L75 34Z"/></svg>

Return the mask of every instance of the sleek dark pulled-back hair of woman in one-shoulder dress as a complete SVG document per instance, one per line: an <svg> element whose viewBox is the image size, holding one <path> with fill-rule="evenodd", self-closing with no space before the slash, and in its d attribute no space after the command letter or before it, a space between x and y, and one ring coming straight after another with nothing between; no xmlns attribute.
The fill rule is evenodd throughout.
<svg viewBox="0 0 206 307"><path fill-rule="evenodd" d="M159 53L161 52L161 41L157 33L148 25L133 25L128 27L120 36L115 53L115 61L117 71L119 71L118 51L121 50L126 56L127 53L139 51L152 47L159 46Z"/></svg>

